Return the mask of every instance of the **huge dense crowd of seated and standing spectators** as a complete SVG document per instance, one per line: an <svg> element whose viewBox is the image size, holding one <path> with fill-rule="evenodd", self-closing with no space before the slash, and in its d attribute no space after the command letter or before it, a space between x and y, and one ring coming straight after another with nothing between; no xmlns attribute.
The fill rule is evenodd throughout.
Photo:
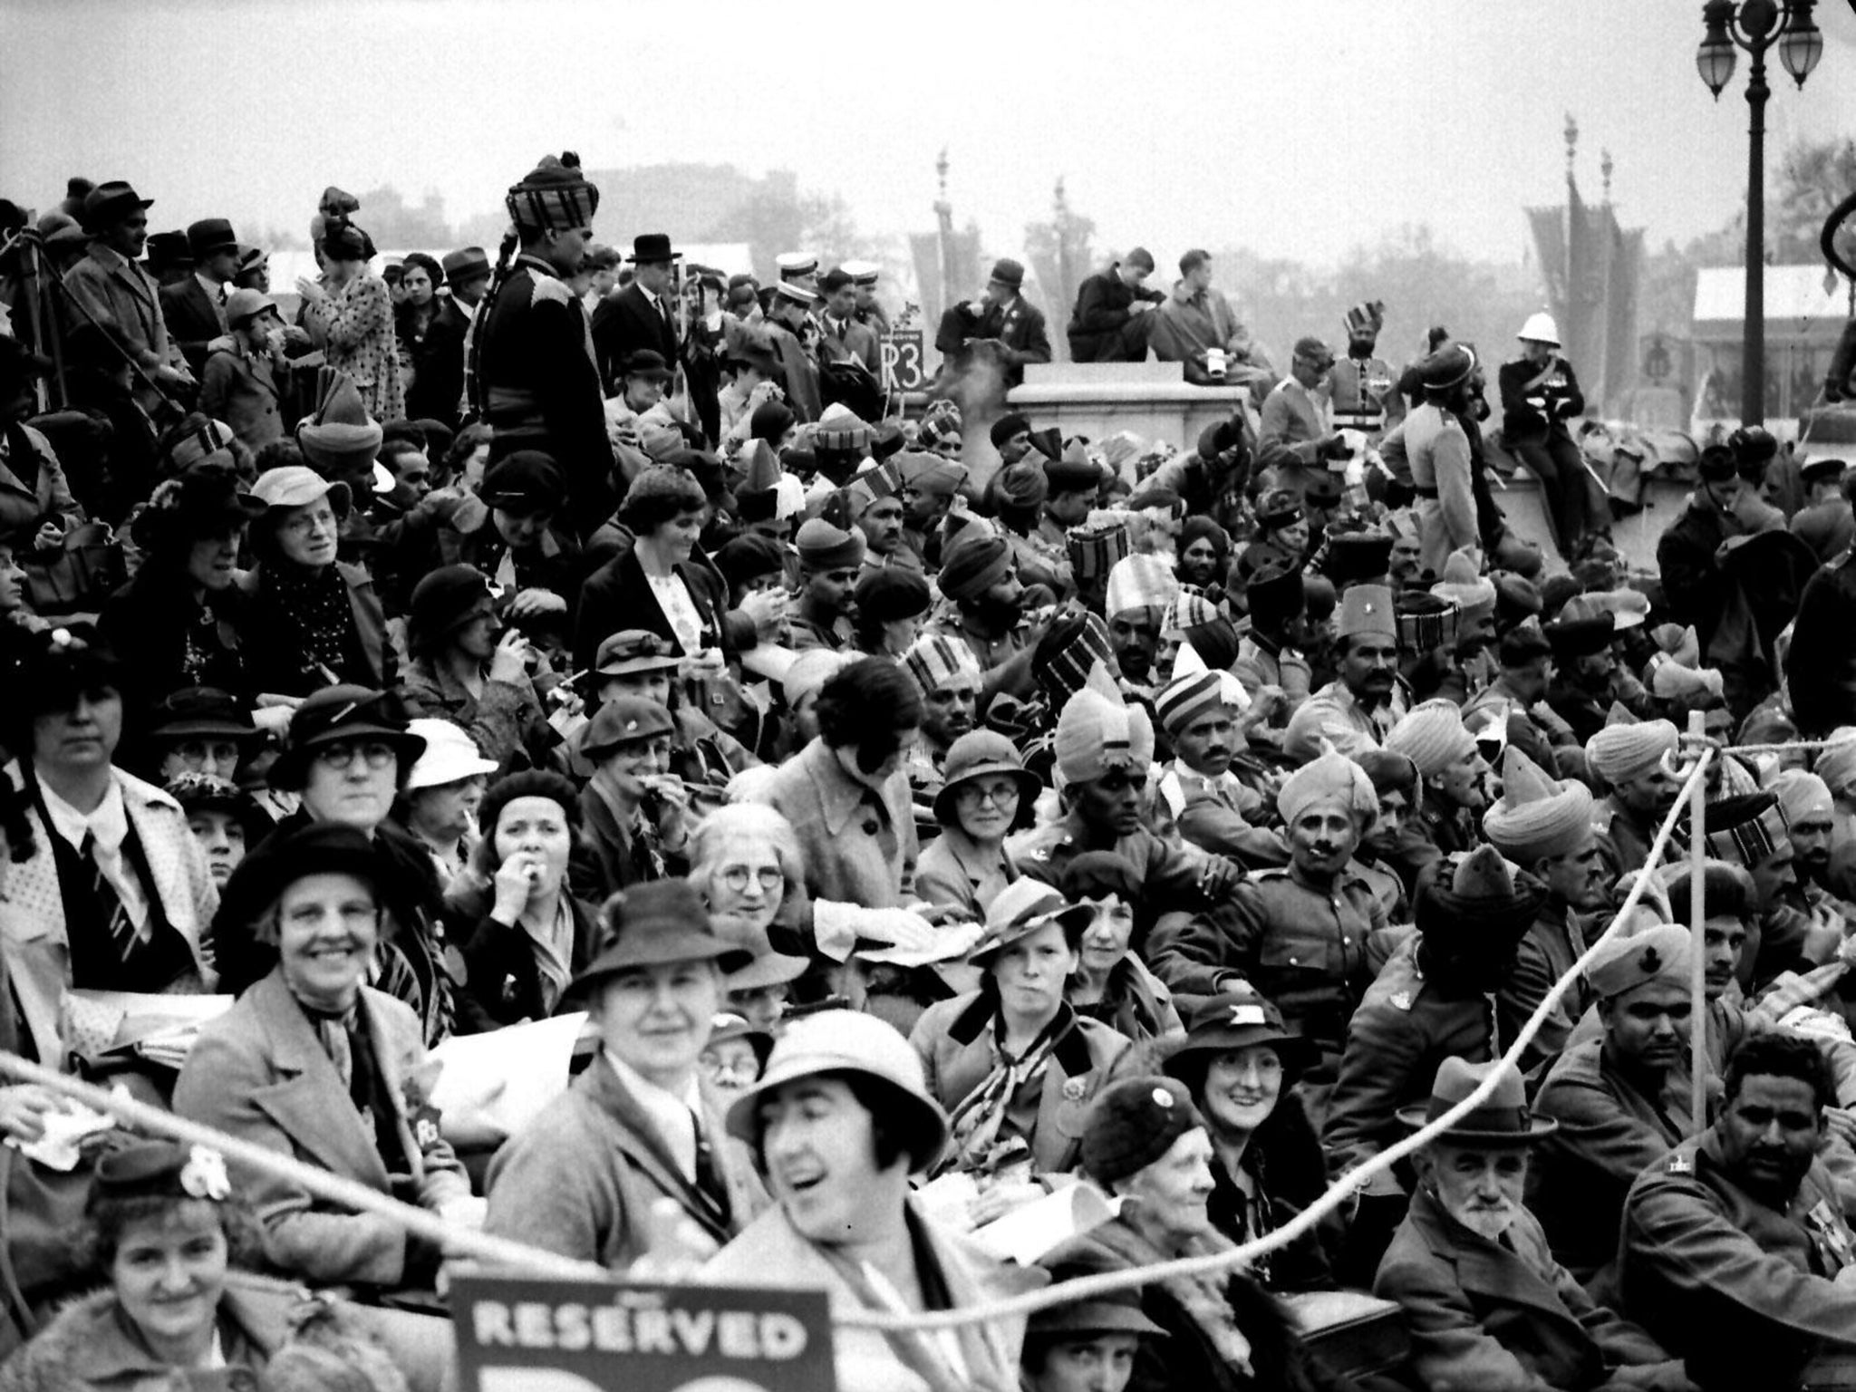
<svg viewBox="0 0 1856 1392"><path fill-rule="evenodd" d="M0 204L0 1049L453 1232L837 1312L1229 1253L1490 1082L1257 1260L843 1325L839 1386L1849 1377L1836 460L1708 444L1633 568L1546 316L1494 373L1542 549L1474 345L1394 369L1373 303L1277 373L1199 251L1091 277L1069 343L1231 416L1065 438L885 392L874 265L596 243L574 156L392 278L329 189L288 312L148 206ZM943 388L1049 360L1021 288L947 310ZM572 1080L436 1104L447 1041L575 1012ZM442 1368L423 1231L43 1086L0 1132L0 1392ZM987 1244L1078 1184L1114 1216Z"/></svg>

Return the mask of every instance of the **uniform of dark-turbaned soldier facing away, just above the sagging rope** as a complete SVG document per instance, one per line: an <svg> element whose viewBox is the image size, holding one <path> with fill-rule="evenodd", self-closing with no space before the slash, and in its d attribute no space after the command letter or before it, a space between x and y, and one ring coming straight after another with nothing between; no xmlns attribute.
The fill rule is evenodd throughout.
<svg viewBox="0 0 1856 1392"><path fill-rule="evenodd" d="M1405 939L1347 1023L1347 1047L1321 1132L1334 1175L1403 1140L1407 1127L1398 1108L1431 1095L1446 1058L1485 1063L1502 1052L1494 997L1459 995L1425 980L1418 961L1422 941L1416 934ZM1390 1175L1385 1182L1396 1184Z"/></svg>

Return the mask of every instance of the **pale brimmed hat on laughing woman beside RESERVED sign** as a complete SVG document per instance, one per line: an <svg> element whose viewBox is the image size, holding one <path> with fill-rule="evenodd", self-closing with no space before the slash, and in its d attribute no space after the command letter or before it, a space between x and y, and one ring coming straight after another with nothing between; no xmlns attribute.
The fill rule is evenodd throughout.
<svg viewBox="0 0 1856 1392"><path fill-rule="evenodd" d="M909 1169L924 1169L947 1145L947 1112L928 1091L921 1054L893 1025L854 1010L820 1010L793 1021L774 1041L761 1080L728 1108L728 1134L761 1140L761 1101L789 1082L820 1073L856 1073L885 1088L885 1125L902 1136Z"/></svg>

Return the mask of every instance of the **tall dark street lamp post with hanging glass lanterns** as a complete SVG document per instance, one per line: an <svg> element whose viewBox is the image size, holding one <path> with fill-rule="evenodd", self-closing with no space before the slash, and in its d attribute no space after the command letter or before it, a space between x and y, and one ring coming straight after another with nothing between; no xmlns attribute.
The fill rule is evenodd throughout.
<svg viewBox="0 0 1856 1392"><path fill-rule="evenodd" d="M1852 0L1856 2L1856 0ZM1734 48L1752 58L1746 78L1750 113L1746 141L1746 306L1741 340L1741 423L1765 421L1765 50L1778 43L1778 58L1798 87L1824 54L1824 35L1811 20L1817 0L1708 0L1702 24L1708 33L1695 54L1695 67L1708 91L1721 100L1734 78Z"/></svg>

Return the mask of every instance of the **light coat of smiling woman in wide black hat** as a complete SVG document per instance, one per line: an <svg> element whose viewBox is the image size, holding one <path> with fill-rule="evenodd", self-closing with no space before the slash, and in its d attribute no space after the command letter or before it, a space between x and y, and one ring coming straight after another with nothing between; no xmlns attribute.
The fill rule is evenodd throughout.
<svg viewBox="0 0 1856 1392"><path fill-rule="evenodd" d="M436 1208L470 1193L451 1145L416 1112L425 1045L418 1017L371 987L360 991L367 1034L393 1108L410 1177L390 1177L373 1130L316 1038L308 1015L284 986L282 967L200 1030L174 1084L174 1112L241 1141L366 1184L380 1193L406 1186ZM414 1099L419 1101L414 1101ZM314 1282L392 1286L406 1262L406 1232L375 1214L340 1212L288 1179L230 1162L232 1179L264 1232L264 1255L282 1271Z"/></svg>

